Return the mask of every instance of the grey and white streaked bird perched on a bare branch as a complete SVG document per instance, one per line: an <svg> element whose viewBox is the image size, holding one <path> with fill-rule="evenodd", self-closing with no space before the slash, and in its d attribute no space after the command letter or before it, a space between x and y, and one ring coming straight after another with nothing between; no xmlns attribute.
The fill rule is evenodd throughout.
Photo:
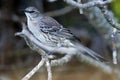
<svg viewBox="0 0 120 80"><path fill-rule="evenodd" d="M40 43L49 47L57 48L76 47L82 52L87 53L93 59L103 59L99 54L83 46L81 43L78 43L76 37L70 32L70 30L64 28L54 18L40 13L37 8L32 6L27 7L24 9L24 13L27 17L28 30ZM49 53L49 51L47 52L49 55L53 54Z"/></svg>

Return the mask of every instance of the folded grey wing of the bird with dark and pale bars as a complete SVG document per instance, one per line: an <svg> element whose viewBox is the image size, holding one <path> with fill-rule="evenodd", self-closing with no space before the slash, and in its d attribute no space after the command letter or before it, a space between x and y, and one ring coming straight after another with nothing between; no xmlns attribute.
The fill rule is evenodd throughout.
<svg viewBox="0 0 120 80"><path fill-rule="evenodd" d="M66 28L63 28L61 24L59 24L56 20L54 20L51 17L44 16L41 19L41 22L44 25L40 26L40 30L44 33L49 33L51 35L68 38L68 39L74 38L74 36L72 35L72 33L70 33L69 30L67 30Z"/></svg>

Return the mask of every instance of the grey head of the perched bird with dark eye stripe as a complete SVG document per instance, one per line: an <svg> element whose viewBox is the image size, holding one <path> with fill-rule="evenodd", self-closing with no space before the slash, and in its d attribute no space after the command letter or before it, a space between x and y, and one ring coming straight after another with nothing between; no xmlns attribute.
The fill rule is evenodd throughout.
<svg viewBox="0 0 120 80"><path fill-rule="evenodd" d="M40 12L35 7L26 8L24 10L24 13L27 16L27 18L30 18L30 19L34 19L34 18L37 18L38 16L40 16Z"/></svg>

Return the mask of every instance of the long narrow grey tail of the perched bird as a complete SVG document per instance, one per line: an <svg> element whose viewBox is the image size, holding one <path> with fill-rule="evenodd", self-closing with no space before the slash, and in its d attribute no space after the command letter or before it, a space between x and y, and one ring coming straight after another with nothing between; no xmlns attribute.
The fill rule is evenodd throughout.
<svg viewBox="0 0 120 80"><path fill-rule="evenodd" d="M76 48L78 50L80 50L81 52L83 52L85 55L90 56L91 58L98 60L98 61L106 61L103 57L101 57L99 54L97 54L96 52L92 51L91 49L83 46L82 44L75 44Z"/></svg>

